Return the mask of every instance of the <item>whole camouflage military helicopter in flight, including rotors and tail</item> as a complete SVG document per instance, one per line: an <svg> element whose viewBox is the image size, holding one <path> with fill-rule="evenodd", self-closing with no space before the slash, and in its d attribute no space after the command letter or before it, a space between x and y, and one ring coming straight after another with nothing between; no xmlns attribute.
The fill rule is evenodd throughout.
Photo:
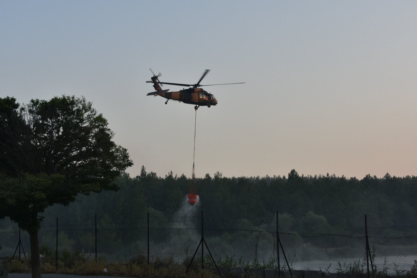
<svg viewBox="0 0 417 278"><path fill-rule="evenodd" d="M203 90L201 88L198 88L198 87L213 86L213 85L243 84L243 83L245 83L245 82L240 82L240 83L201 85L200 84L201 80L203 80L203 78L206 76L206 74L210 70L205 70L203 75L201 75L200 80L198 80L198 82L196 84L160 82L158 78L161 76L161 73L158 73L158 75L155 75L155 73L153 73L151 68L149 70L153 74L153 76L151 77L152 81L146 81L146 83L153 83L153 88L155 88L156 91L152 92L152 93L148 93L147 95L153 95L153 96L160 95L161 97L167 99L165 104L168 103L168 100L174 100L174 101L179 101L179 102L183 102L183 103L194 104L194 105L196 105L196 106L194 106L194 109L196 111L200 106L207 106L208 108L210 108L211 105L217 105L217 100L214 97L214 95L212 95L211 93L207 93L205 90ZM177 92L168 92L169 89L162 90L161 86L159 84L161 84L161 86L163 86L162 84L177 85L177 86L184 86L184 87L191 87L192 86L192 88L179 90Z"/></svg>

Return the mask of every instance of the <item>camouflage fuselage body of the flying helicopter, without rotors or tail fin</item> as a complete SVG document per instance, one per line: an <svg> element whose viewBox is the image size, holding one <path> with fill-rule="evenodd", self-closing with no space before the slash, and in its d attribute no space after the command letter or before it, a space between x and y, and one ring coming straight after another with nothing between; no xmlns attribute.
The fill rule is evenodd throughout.
<svg viewBox="0 0 417 278"><path fill-rule="evenodd" d="M168 100L177 100L199 106L210 107L211 105L217 105L217 100L214 98L214 95L207 93L201 88L188 88L178 92L164 92L156 95L160 95Z"/></svg>

